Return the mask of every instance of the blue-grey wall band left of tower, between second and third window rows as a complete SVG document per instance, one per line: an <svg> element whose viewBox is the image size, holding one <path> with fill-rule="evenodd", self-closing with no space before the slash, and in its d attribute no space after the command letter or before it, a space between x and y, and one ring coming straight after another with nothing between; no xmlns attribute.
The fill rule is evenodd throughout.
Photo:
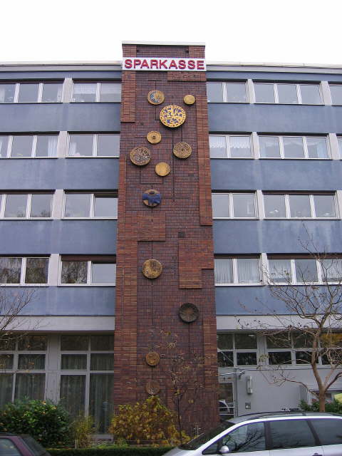
<svg viewBox="0 0 342 456"><path fill-rule="evenodd" d="M116 190L117 158L0 160L1 190Z"/></svg>

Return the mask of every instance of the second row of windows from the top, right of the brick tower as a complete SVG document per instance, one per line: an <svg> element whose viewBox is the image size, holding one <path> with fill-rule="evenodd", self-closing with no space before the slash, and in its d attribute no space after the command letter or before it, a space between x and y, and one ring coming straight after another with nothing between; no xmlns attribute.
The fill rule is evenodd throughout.
<svg viewBox="0 0 342 456"><path fill-rule="evenodd" d="M257 135L260 158L328 159L326 136ZM337 138L342 158L342 138ZM251 135L209 135L210 158L253 158Z"/></svg>

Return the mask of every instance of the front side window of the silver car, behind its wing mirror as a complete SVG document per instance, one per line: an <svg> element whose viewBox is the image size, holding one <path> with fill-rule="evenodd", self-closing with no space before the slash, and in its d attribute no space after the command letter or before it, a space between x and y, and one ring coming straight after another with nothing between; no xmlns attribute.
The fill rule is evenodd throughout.
<svg viewBox="0 0 342 456"><path fill-rule="evenodd" d="M234 429L222 438L229 453L254 452L266 449L264 423L251 423Z"/></svg>

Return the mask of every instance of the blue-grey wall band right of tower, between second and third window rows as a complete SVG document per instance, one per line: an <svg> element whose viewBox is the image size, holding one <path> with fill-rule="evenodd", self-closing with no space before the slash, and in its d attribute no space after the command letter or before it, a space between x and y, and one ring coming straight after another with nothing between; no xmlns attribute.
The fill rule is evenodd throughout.
<svg viewBox="0 0 342 456"><path fill-rule="evenodd" d="M340 160L212 159L212 190L341 190Z"/></svg>

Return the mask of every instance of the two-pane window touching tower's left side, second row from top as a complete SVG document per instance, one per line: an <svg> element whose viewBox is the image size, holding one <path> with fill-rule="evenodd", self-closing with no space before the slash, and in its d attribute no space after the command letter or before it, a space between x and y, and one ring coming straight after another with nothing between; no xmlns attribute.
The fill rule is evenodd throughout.
<svg viewBox="0 0 342 456"><path fill-rule="evenodd" d="M118 157L120 135L113 133L69 134L69 157Z"/></svg>

